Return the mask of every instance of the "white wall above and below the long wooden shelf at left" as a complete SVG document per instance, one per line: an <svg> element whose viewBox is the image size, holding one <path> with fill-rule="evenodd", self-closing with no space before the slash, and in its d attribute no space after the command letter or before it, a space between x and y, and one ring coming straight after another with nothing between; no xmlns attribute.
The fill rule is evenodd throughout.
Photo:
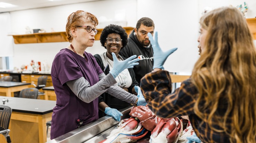
<svg viewBox="0 0 256 143"><path fill-rule="evenodd" d="M134 26L137 22L134 16L136 0L104 0L11 12L12 33L24 34L26 26L31 29L44 29L47 32L51 32L52 28L56 32L65 31L68 15L76 10L88 11L97 18L104 16L107 19L113 19L118 10L126 11L127 26ZM67 45L68 42L14 44L13 66L19 68L21 65L28 65L31 59L35 62L46 61L51 66L55 55ZM99 41L95 41L93 47L86 49L86 52L93 55L105 51Z"/></svg>

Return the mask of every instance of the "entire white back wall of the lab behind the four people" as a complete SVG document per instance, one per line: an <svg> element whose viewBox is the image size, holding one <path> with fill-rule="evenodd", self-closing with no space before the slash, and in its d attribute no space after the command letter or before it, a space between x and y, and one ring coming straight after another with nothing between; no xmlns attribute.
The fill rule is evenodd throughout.
<svg viewBox="0 0 256 143"><path fill-rule="evenodd" d="M68 15L76 10L84 10L96 15L112 19L121 11L127 20L127 26L135 27L141 17L152 18L155 31L158 31L160 46L167 50L178 47L178 50L168 57L165 69L170 72L191 72L198 59L199 18L204 7L217 8L221 6L243 4L243 0L102 0L79 4L62 5L58 7L32 9L10 12L12 33L24 34L25 27L45 29L51 32L65 31ZM256 1L247 0L248 18L256 16ZM100 21L99 21L100 22ZM34 61L47 61L52 64L58 51L65 48L68 42L13 44L13 66L20 67ZM99 41L86 52L97 54L104 52Z"/></svg>

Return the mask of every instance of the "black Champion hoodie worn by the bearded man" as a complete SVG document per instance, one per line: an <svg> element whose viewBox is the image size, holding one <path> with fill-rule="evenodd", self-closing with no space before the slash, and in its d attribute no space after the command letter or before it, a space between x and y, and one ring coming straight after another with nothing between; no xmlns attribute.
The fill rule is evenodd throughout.
<svg viewBox="0 0 256 143"><path fill-rule="evenodd" d="M124 56L125 58L137 55L137 58L140 59L140 61L138 61L139 65L135 65L133 68L135 78L139 85L140 79L153 70L154 56L152 46L151 44L148 47L141 45L134 30L129 35L128 43L120 50L119 55Z"/></svg>

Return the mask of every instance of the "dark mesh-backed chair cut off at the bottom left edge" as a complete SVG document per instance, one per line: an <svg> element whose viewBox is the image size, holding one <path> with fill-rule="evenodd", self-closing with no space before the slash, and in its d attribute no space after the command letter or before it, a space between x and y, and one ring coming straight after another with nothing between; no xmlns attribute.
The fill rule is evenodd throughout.
<svg viewBox="0 0 256 143"><path fill-rule="evenodd" d="M11 108L6 105L0 105L0 134L2 134L7 143L11 143L9 135L9 123L11 120Z"/></svg>

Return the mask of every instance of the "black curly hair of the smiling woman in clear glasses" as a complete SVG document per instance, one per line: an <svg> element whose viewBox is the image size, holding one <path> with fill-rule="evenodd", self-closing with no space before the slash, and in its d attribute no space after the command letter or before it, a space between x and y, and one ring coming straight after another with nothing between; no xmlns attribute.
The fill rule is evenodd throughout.
<svg viewBox="0 0 256 143"><path fill-rule="evenodd" d="M120 37L122 39L122 44L123 44L123 46L121 48L125 47L128 42L128 35L125 32L125 29L122 28L122 26L115 25L115 24L110 24L102 30L102 32L100 34L101 46L105 47L105 49L107 48L105 46L105 42L107 41L108 34L112 34L112 33L116 33L116 34L120 35Z"/></svg>

